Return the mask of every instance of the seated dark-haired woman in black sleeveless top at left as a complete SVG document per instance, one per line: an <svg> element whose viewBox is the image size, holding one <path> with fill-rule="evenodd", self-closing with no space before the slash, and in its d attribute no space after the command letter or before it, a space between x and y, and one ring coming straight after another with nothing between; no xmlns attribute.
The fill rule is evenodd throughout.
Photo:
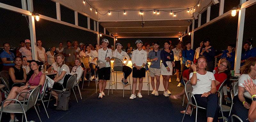
<svg viewBox="0 0 256 122"><path fill-rule="evenodd" d="M27 74L26 70L22 68L22 58L14 58L15 65L9 68L9 85L12 88L14 83L26 83ZM20 87L22 84L15 84Z"/></svg>

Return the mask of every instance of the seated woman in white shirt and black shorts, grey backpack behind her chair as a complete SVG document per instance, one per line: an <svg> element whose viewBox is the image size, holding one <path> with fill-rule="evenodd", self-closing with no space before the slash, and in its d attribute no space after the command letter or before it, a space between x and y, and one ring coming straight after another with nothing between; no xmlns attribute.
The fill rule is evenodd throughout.
<svg viewBox="0 0 256 122"><path fill-rule="evenodd" d="M63 84L64 82L64 78L65 75L69 74L69 67L67 65L65 65L65 58L62 54L57 54L56 55L56 62L57 65L59 66L58 70L57 70L57 74L56 77L53 79L54 82L60 82L61 84ZM56 89L56 90L62 90L63 88L61 86L59 86L59 84L54 84L52 89ZM57 101L58 101L58 94L55 91L52 91L52 96L55 97L56 99L56 103L54 104L54 106L57 106Z"/></svg>

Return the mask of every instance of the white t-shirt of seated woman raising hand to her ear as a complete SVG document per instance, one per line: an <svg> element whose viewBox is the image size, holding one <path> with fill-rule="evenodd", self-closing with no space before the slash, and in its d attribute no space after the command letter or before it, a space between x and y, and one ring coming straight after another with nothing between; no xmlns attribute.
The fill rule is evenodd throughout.
<svg viewBox="0 0 256 122"><path fill-rule="evenodd" d="M189 79L192 78L193 72L189 74ZM215 77L212 72L206 72L206 74L201 75L196 72L197 83L193 87L192 94L204 94L209 92L212 89L212 80L215 80Z"/></svg>

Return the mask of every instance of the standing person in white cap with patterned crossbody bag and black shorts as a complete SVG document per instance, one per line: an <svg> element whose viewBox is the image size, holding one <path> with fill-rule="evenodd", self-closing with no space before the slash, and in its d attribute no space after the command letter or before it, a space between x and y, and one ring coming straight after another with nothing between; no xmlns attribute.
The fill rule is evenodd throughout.
<svg viewBox="0 0 256 122"><path fill-rule="evenodd" d="M109 43L108 40L102 39L101 42L102 42L103 48L99 50L98 60L100 61L100 63L105 63L106 66L99 69L98 75L99 75L100 94L98 98L102 98L103 96L105 96L104 89L106 88L107 80L110 79L110 70L111 70L109 59L113 57L112 50L107 48Z"/></svg>

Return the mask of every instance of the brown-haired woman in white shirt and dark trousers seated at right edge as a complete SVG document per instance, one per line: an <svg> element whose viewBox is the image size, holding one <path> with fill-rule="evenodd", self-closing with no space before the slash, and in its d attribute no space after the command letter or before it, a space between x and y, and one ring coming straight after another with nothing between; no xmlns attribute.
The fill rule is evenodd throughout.
<svg viewBox="0 0 256 122"><path fill-rule="evenodd" d="M251 107L252 99L244 97L244 92L247 92L244 88L244 81L252 79L252 82L256 84L256 57L250 57L246 60L240 71L242 73L238 82L238 95L234 97L234 112L244 122L248 118L248 109Z"/></svg>

